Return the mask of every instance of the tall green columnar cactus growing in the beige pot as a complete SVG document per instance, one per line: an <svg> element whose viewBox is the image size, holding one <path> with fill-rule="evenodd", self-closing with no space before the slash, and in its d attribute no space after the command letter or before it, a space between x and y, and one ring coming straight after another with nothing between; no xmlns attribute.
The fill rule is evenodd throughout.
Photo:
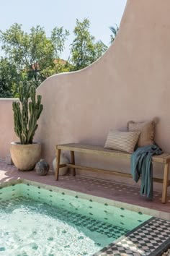
<svg viewBox="0 0 170 256"><path fill-rule="evenodd" d="M32 144L38 127L37 120L43 109L41 95L37 95L36 99L36 89L32 82L27 82L27 85L19 83L19 101L12 103L14 132L21 144Z"/></svg>

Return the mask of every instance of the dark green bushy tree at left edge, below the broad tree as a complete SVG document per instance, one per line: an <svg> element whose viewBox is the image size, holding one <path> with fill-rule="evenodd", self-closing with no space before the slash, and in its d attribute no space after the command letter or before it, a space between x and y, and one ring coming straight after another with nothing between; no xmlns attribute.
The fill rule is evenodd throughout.
<svg viewBox="0 0 170 256"><path fill-rule="evenodd" d="M19 81L19 74L14 64L8 59L0 59L0 98L12 98L13 88Z"/></svg>

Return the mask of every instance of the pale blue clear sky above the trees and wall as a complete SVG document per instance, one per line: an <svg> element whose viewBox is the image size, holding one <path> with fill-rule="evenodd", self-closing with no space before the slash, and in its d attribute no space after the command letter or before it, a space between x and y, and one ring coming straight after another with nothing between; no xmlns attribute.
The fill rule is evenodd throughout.
<svg viewBox="0 0 170 256"><path fill-rule="evenodd" d="M61 58L68 59L76 19L88 18L91 35L109 46L109 27L120 25L125 4L126 0L0 0L0 30L17 22L25 32L32 26L45 27L49 36L53 27L63 26L70 35Z"/></svg>

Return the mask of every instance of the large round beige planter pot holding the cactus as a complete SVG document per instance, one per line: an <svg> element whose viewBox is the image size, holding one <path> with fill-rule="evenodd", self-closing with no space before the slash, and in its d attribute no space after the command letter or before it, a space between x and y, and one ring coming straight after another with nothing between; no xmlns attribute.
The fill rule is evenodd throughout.
<svg viewBox="0 0 170 256"><path fill-rule="evenodd" d="M30 171L35 168L35 164L40 161L40 142L22 145L19 142L12 142L10 153L14 165L20 171Z"/></svg>

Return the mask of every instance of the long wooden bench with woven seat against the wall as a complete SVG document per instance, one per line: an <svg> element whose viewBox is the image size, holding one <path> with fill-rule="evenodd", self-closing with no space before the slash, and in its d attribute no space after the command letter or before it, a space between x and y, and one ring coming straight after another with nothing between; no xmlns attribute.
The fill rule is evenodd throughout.
<svg viewBox="0 0 170 256"><path fill-rule="evenodd" d="M60 164L60 158L61 158L61 150L69 150L71 153L71 163L67 164ZM131 154L115 151L115 150L107 150L105 148L102 148L100 146L94 146L94 145L84 145L79 143L69 143L69 144L63 144L63 145L57 145L56 146L56 170L55 170L55 180L58 180L58 174L59 174L59 168L62 167L70 167L73 169L73 176L76 175L76 168L84 169L87 171L96 171L104 174L114 174L117 176L125 176L125 177L132 177L131 174L125 174L119 171L109 171L104 170L100 168L93 168L93 167L87 167L87 166L78 166L75 164L75 156L74 152L80 152L80 153L91 153L96 155L108 155L112 156L114 158L126 158L130 160ZM164 164L164 179L158 179L153 178L154 182L163 183L162 187L162 200L161 202L165 203L167 200L167 188L170 186L169 182L169 162L170 162L170 155L167 153L163 153L161 155L154 155L152 157L152 161L155 163L163 163Z"/></svg>

